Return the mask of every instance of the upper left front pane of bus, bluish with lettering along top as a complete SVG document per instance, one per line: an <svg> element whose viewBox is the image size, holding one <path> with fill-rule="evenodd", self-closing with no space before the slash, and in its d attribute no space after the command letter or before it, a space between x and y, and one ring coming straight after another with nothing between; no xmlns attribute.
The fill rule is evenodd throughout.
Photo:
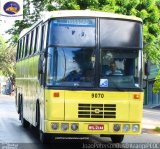
<svg viewBox="0 0 160 149"><path fill-rule="evenodd" d="M49 45L95 46L95 19L57 19L50 23Z"/></svg>

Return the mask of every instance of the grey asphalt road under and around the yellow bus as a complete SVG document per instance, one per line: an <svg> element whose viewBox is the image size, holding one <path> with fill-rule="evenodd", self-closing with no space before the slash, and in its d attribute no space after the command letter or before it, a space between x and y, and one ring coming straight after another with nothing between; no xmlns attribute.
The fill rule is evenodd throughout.
<svg viewBox="0 0 160 149"><path fill-rule="evenodd" d="M42 145L34 129L24 129L18 120L18 114L15 109L15 100L13 96L0 95L0 148L2 149L46 149L46 148L116 148L110 146L110 138L100 138L98 135L58 138L56 143L51 145ZM143 127L151 128L160 126L160 110L145 109L143 113ZM126 143L159 143L160 135L147 134L125 136ZM123 145L124 145L123 144ZM118 147L123 148L123 147ZM124 147L126 148L126 147ZM133 146L131 147L133 148Z"/></svg>

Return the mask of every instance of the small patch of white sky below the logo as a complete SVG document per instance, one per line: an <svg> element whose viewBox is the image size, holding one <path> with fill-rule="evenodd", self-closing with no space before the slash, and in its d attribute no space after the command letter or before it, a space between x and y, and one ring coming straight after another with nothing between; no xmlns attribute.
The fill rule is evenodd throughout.
<svg viewBox="0 0 160 149"><path fill-rule="evenodd" d="M7 31L8 29L12 28L12 26L14 25L14 21L13 20L2 20L0 21L0 34L3 36L3 38L5 40L8 40L11 35L5 33L5 31Z"/></svg>

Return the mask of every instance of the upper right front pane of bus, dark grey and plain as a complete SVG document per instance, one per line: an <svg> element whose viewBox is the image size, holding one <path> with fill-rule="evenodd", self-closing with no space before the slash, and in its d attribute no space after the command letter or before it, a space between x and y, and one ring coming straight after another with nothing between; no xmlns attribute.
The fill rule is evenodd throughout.
<svg viewBox="0 0 160 149"><path fill-rule="evenodd" d="M100 20L100 45L142 49L142 24L124 20Z"/></svg>

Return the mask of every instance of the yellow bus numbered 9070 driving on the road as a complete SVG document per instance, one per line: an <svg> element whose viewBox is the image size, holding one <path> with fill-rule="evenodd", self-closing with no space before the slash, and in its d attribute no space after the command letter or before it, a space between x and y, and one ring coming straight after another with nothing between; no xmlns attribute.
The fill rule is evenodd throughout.
<svg viewBox="0 0 160 149"><path fill-rule="evenodd" d="M90 10L46 12L20 34L16 109L42 143L97 134L121 143L142 128L142 20ZM108 74L114 62L117 74Z"/></svg>

